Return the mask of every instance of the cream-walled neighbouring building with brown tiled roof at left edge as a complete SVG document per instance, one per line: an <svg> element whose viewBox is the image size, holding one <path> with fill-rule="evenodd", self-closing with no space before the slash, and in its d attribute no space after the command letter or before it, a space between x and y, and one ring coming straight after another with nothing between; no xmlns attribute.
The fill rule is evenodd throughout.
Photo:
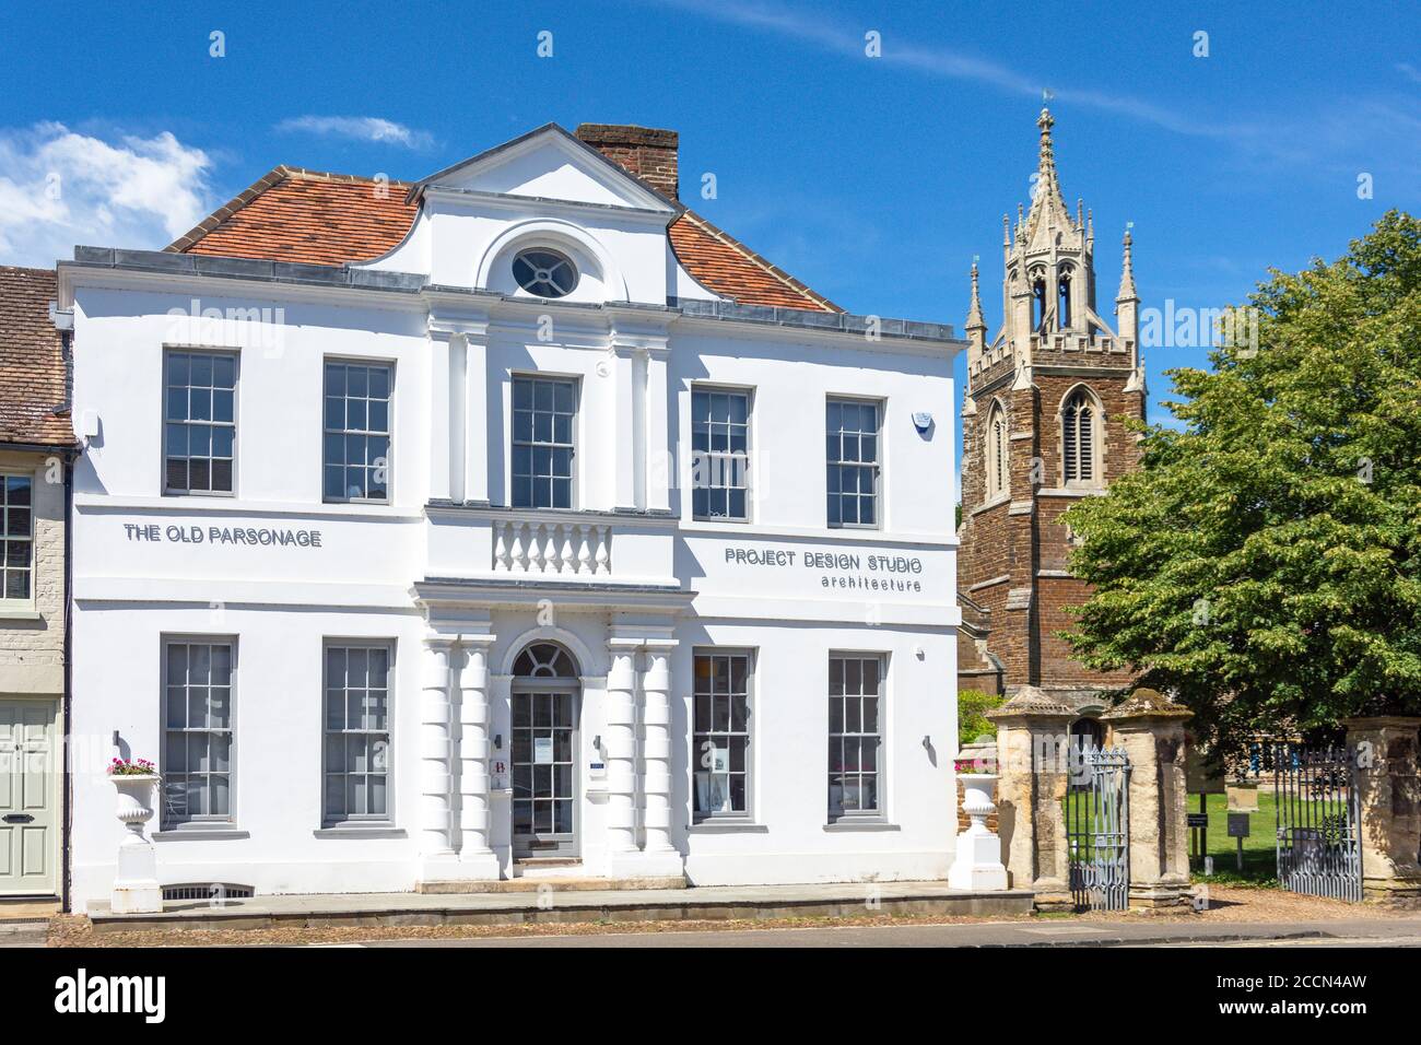
<svg viewBox="0 0 1421 1045"><path fill-rule="evenodd" d="M0 267L0 913L63 889L74 431L55 276Z"/></svg>

